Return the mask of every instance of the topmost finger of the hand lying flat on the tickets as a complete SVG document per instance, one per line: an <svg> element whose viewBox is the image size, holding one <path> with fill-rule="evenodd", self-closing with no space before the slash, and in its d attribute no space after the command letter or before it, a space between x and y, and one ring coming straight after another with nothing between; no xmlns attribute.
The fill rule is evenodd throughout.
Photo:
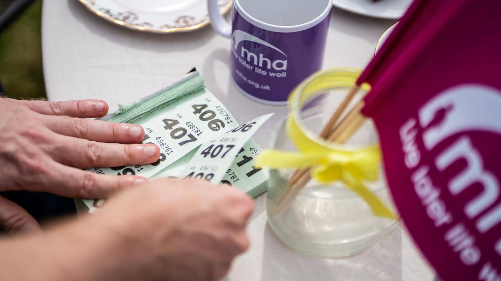
<svg viewBox="0 0 501 281"><path fill-rule="evenodd" d="M100 99L68 101L20 100L33 111L46 115L68 115L81 118L102 117L108 113L108 104Z"/></svg>

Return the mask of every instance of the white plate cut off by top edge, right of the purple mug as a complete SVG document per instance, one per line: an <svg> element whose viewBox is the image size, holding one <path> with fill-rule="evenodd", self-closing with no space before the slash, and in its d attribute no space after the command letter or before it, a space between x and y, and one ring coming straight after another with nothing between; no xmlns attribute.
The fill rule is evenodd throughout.
<svg viewBox="0 0 501 281"><path fill-rule="evenodd" d="M334 0L333 5L358 14L372 17L399 19L412 0Z"/></svg>

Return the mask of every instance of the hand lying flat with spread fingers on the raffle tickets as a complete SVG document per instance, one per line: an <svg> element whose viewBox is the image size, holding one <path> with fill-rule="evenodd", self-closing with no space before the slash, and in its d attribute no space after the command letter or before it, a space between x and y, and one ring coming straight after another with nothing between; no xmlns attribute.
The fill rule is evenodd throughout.
<svg viewBox="0 0 501 281"><path fill-rule="evenodd" d="M99 175L82 168L149 164L160 155L154 144L135 144L144 137L139 125L83 119L106 115L108 105L102 100L0 98L0 111L0 191L105 198L147 179ZM40 228L33 217L5 198L0 198L0 226L8 231Z"/></svg>

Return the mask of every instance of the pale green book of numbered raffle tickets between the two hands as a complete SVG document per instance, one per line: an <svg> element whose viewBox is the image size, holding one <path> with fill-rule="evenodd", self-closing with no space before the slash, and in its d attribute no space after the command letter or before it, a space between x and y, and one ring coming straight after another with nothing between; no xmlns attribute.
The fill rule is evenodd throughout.
<svg viewBox="0 0 501 281"><path fill-rule="evenodd" d="M155 143L161 154L147 165L95 167L99 174L134 174L146 178L200 178L238 187L252 197L267 189L266 170L254 165L262 148L250 138L273 114L238 124L229 110L204 86L198 72L101 119L143 126L143 143ZM198 149L197 149L198 147ZM76 199L95 212L103 199Z"/></svg>

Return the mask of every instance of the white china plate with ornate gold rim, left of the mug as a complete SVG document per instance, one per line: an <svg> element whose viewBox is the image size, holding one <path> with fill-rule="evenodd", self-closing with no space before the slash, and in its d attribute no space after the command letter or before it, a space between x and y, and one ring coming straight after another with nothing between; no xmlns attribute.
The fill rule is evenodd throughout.
<svg viewBox="0 0 501 281"><path fill-rule="evenodd" d="M154 33L188 32L210 23L207 0L79 0L96 15L121 26ZM231 0L218 0L226 13Z"/></svg>

